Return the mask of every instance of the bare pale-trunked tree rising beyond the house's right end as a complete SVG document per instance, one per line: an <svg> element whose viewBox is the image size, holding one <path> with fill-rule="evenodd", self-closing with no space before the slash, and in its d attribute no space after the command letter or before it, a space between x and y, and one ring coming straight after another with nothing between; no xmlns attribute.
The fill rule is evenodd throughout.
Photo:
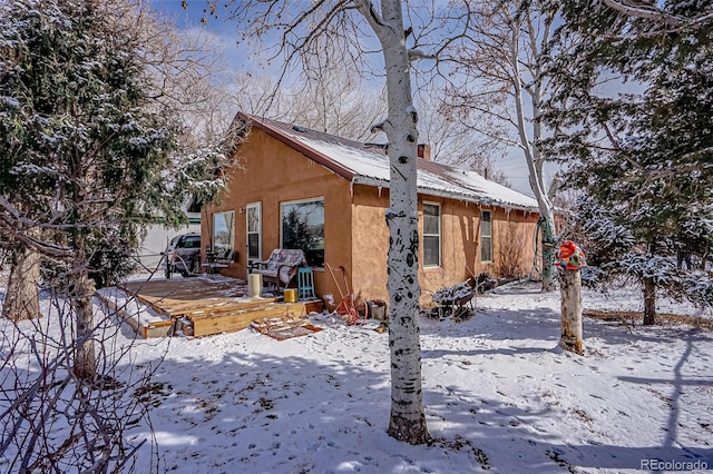
<svg viewBox="0 0 713 474"><path fill-rule="evenodd" d="M476 7L473 7L476 10ZM527 164L530 188L541 224L543 289L553 289L555 219L538 142L545 138L541 105L550 93L544 73L546 47L555 28L556 9L544 2L486 1L477 4L456 63L450 89L453 115L492 140L519 149Z"/></svg>

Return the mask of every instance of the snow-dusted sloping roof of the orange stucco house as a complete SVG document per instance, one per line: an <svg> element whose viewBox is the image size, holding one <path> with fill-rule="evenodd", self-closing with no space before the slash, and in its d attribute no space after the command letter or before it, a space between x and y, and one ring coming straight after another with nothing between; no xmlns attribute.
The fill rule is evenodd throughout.
<svg viewBox="0 0 713 474"><path fill-rule="evenodd" d="M352 182L389 187L390 164L384 146L361 144L277 120L240 113L260 129L299 149ZM418 160L418 191L476 204L537 211L537 201L486 179L481 175L448 165Z"/></svg>

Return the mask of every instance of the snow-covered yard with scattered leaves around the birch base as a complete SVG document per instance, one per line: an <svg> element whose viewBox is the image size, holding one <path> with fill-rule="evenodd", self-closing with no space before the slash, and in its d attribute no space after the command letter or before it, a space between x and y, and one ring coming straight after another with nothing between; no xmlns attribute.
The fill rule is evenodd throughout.
<svg viewBox="0 0 713 474"><path fill-rule="evenodd" d="M123 328L115 342L133 345L131 364L155 367L150 426L141 422L128 435L157 443L158 457L145 445L138 472L713 468L713 334L585 319L579 357L557 348L558 293L515 284L475 303L477 315L463 323L420 319L430 446L385 433L388 334L373 326L319 315L313 324L324 330L283 342L251 329L133 340ZM643 303L638 290L622 288L586 292L584 306ZM696 314L667 304L660 310Z"/></svg>

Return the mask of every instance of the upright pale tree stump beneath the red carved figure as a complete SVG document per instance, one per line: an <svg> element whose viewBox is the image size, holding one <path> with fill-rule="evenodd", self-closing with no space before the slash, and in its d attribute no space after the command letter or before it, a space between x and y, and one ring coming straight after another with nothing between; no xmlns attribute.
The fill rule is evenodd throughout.
<svg viewBox="0 0 713 474"><path fill-rule="evenodd" d="M561 336L559 346L584 355L582 328L582 277L579 270L564 269L560 274Z"/></svg>

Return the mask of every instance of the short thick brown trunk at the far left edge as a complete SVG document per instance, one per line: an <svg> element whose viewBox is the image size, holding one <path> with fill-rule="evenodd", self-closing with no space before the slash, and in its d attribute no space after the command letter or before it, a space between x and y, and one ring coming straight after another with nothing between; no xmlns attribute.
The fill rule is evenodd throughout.
<svg viewBox="0 0 713 474"><path fill-rule="evenodd" d="M23 248L10 269L2 316L14 322L41 317L38 296L40 254Z"/></svg>

